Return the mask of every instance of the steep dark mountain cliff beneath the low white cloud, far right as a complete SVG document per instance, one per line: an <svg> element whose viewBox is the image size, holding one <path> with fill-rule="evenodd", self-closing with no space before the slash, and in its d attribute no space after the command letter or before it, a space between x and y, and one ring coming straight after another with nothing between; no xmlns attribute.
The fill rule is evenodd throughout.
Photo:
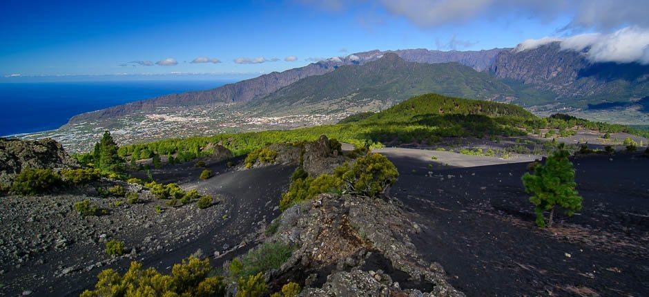
<svg viewBox="0 0 649 297"><path fill-rule="evenodd" d="M490 72L501 79L550 91L556 94L552 101L580 108L603 102L630 102L649 93L649 66L592 63L581 52L561 50L558 42L530 50L503 50L495 57Z"/></svg>

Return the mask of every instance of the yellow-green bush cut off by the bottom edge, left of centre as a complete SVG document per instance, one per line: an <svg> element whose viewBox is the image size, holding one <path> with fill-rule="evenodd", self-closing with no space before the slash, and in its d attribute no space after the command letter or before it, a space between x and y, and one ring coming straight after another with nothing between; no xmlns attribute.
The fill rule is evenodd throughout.
<svg viewBox="0 0 649 297"><path fill-rule="evenodd" d="M142 269L141 263L133 261L124 276L113 269L101 271L95 289L84 291L81 297L225 296L223 278L209 277L211 271L209 259L195 257L173 265L169 275L160 274L153 268Z"/></svg>

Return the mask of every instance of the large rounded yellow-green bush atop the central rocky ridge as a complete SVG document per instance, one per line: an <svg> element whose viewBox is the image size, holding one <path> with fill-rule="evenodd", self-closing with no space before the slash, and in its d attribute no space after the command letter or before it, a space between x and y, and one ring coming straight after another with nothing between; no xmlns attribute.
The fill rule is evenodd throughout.
<svg viewBox="0 0 649 297"><path fill-rule="evenodd" d="M399 172L387 157L370 153L359 157L356 162L345 162L334 173L343 187L355 195L375 197L396 182Z"/></svg>

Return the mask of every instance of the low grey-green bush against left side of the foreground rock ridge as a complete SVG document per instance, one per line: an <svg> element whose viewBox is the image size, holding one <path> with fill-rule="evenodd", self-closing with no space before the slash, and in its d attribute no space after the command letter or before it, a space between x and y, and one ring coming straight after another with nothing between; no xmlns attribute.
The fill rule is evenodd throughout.
<svg viewBox="0 0 649 297"><path fill-rule="evenodd" d="M235 258L230 263L230 276L253 276L263 274L271 269L279 269L289 260L293 247L282 242L264 243L251 249L242 258Z"/></svg>

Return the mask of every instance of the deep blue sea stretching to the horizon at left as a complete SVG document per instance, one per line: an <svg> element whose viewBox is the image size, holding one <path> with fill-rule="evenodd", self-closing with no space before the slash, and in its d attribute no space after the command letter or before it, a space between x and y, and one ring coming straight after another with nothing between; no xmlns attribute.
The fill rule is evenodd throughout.
<svg viewBox="0 0 649 297"><path fill-rule="evenodd" d="M0 135L48 131L79 113L233 81L151 80L128 82L0 83Z"/></svg>

